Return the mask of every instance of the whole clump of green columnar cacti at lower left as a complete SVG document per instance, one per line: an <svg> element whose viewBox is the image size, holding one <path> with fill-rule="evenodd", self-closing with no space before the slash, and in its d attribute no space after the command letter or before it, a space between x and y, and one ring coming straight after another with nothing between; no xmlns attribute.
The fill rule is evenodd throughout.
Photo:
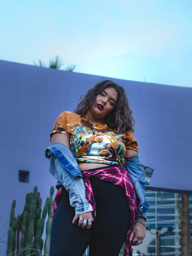
<svg viewBox="0 0 192 256"><path fill-rule="evenodd" d="M21 231L20 249L17 251L17 256L40 256L43 249L43 229L45 225L45 218L48 212L48 221L46 224L46 239L45 248L46 255L48 255L50 245L50 232L52 223L52 205L53 205L53 186L50 189L50 197L46 199L42 216L41 205L42 199L40 193L35 186L33 193L27 193L25 198L24 211L21 215L18 215L18 219L15 217L15 200L13 200L11 214L10 214L10 229L8 231L8 243L7 243L7 255L15 256L16 247L16 231L17 228ZM19 236L18 238L19 239Z"/></svg>

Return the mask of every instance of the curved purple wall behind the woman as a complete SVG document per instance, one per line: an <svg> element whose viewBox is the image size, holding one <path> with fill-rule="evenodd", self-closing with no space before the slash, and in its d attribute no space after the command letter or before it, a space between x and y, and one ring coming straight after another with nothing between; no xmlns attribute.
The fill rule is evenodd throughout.
<svg viewBox="0 0 192 256"><path fill-rule="evenodd" d="M7 230L12 200L17 200L16 215L22 213L25 194L35 185L44 204L55 185L44 151L56 117L73 111L79 96L103 79L0 61L0 229L7 223ZM150 186L192 191L192 88L112 80L131 103L140 160L155 169ZM30 183L18 182L18 170L30 171Z"/></svg>

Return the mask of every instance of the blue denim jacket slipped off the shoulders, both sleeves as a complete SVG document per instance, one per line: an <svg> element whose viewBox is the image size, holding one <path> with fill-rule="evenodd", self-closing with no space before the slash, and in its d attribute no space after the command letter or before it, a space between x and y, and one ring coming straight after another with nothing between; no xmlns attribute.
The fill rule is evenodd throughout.
<svg viewBox="0 0 192 256"><path fill-rule="evenodd" d="M78 163L71 152L63 143L54 142L45 151L45 157L50 159L49 171L58 180L58 185L63 185L70 195L70 205L75 208L75 214L93 211L85 195L85 186L82 179ZM146 218L145 212L149 208L145 200L146 180L151 179L153 169L144 167L139 162L138 157L132 157L126 161L126 170L129 172L134 189L139 199L138 214ZM144 169L147 168L147 179Z"/></svg>

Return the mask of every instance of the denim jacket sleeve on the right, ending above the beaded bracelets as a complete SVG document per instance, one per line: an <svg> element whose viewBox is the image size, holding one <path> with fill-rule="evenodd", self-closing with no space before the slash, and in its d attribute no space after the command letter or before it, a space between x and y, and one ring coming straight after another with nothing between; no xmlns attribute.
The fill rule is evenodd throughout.
<svg viewBox="0 0 192 256"><path fill-rule="evenodd" d="M139 199L137 216L146 218L145 212L149 208L149 205L147 204L145 198L145 187L146 184L149 184L154 169L150 167L144 167L140 163L138 156L127 159L125 167L131 176L135 192ZM147 173L144 173L144 169L147 171Z"/></svg>

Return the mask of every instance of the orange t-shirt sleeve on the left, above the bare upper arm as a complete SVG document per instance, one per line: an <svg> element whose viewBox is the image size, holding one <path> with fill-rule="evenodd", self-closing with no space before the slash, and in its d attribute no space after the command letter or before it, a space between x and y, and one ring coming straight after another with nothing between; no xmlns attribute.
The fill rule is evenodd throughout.
<svg viewBox="0 0 192 256"><path fill-rule="evenodd" d="M66 112L62 112L58 116L58 118L55 122L55 125L53 126L53 130L51 131L50 136L53 135L53 133L64 133L64 134L70 136L68 131L67 131L67 115L66 115Z"/></svg>

